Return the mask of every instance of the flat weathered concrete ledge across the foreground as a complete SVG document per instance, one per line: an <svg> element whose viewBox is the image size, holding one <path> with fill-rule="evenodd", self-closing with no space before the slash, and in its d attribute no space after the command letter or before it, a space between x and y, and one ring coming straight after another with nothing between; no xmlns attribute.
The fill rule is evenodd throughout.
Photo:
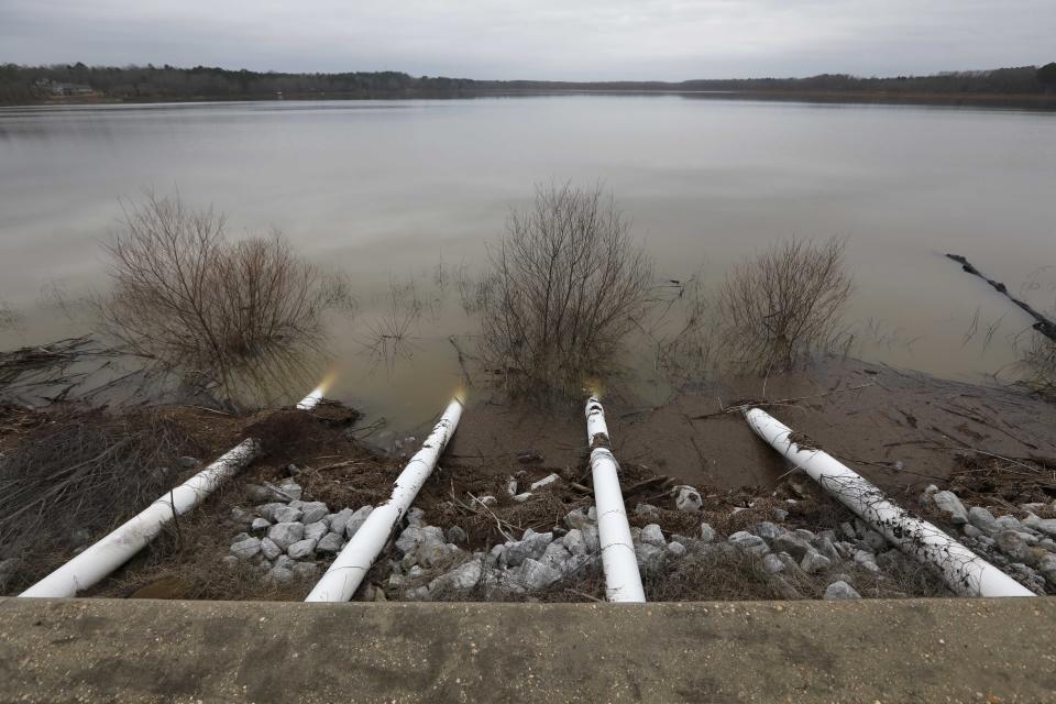
<svg viewBox="0 0 1056 704"><path fill-rule="evenodd" d="M0 701L1056 701L1056 600L0 598Z"/></svg>

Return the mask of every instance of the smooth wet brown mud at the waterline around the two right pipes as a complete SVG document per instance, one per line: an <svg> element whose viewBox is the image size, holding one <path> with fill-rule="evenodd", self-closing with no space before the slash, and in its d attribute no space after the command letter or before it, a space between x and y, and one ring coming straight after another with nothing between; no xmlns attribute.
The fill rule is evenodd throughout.
<svg viewBox="0 0 1056 704"><path fill-rule="evenodd" d="M772 487L788 471L783 459L759 441L736 409L724 413L747 399L895 495L919 494L945 480L956 466L954 458L966 451L1056 458L1056 405L1016 389L857 360L700 385L659 407L609 398L613 449L622 462L688 484ZM496 474L519 466L518 457L575 468L583 464L583 433L578 406L541 415L496 395L471 405L448 454Z"/></svg>

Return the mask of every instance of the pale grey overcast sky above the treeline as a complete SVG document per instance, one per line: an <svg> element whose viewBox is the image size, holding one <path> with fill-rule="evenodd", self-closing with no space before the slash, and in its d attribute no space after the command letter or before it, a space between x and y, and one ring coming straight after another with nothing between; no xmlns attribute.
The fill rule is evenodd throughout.
<svg viewBox="0 0 1056 704"><path fill-rule="evenodd" d="M0 62L469 78L924 74L1056 61L1056 0L0 0Z"/></svg>

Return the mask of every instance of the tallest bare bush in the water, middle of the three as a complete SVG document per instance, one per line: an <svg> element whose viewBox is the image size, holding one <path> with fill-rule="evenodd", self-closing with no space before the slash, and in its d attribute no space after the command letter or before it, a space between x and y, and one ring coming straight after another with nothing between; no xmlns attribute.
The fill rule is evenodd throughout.
<svg viewBox="0 0 1056 704"><path fill-rule="evenodd" d="M537 187L513 211L477 297L482 352L514 392L576 391L610 369L646 309L652 265L600 187Z"/></svg>

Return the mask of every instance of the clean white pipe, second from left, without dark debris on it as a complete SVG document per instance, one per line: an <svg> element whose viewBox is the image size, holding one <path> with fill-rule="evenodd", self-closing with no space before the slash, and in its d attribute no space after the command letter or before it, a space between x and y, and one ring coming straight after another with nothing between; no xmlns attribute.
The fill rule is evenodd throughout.
<svg viewBox="0 0 1056 704"><path fill-rule="evenodd" d="M349 540L349 544L312 587L306 602L346 602L352 598L371 565L385 549L385 543L388 542L404 514L418 496L426 480L432 474L461 417L462 399L455 397L448 404L447 410L426 438L421 449L396 477L388 502L371 512Z"/></svg>

